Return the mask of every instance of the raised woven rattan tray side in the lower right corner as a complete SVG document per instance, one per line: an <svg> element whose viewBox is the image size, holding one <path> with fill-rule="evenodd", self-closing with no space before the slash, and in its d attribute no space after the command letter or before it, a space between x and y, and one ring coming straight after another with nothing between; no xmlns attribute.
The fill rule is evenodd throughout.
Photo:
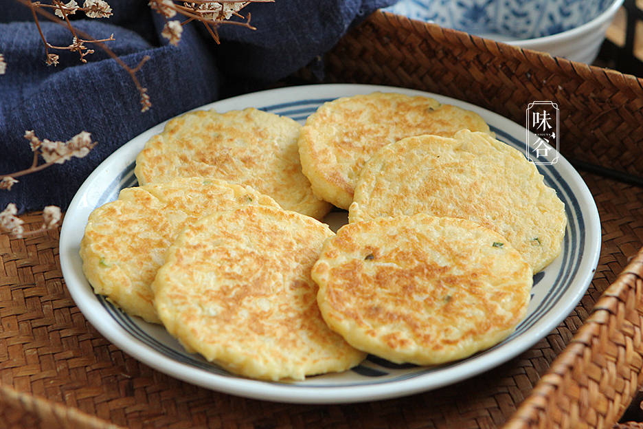
<svg viewBox="0 0 643 429"><path fill-rule="evenodd" d="M643 383L643 250L598 300L507 428L609 427Z"/></svg>

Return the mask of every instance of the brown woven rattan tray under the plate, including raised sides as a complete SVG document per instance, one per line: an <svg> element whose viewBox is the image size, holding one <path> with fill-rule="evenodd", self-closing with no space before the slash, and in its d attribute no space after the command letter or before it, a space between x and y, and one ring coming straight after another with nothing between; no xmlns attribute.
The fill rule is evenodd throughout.
<svg viewBox="0 0 643 429"><path fill-rule="evenodd" d="M643 89L632 76L381 13L352 30L326 67L329 81L424 89L517 122L528 102L556 100L567 157L640 171ZM302 76L312 80L307 71ZM28 239L1 234L0 427L609 428L643 381L643 188L582 176L598 206L602 250L572 314L492 371L363 404L256 401L150 369L103 338L74 305L60 273L57 231ZM23 219L26 229L41 225L38 213Z"/></svg>

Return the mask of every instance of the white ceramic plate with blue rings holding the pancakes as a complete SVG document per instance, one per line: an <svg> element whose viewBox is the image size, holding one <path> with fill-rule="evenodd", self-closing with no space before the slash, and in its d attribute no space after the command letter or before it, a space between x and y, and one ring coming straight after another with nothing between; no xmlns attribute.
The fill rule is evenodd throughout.
<svg viewBox="0 0 643 429"><path fill-rule="evenodd" d="M525 129L522 126L473 104L403 88L371 85L288 87L229 98L201 109L223 112L257 107L303 122L323 102L372 91L428 95L440 102L470 109L482 115L500 140L523 150ZM525 104L530 101L525 100ZM504 342L471 358L442 366L397 365L369 357L350 371L308 377L303 382L262 382L238 377L199 355L186 353L163 327L130 317L102 296L95 295L82 274L78 250L89 213L116 199L122 188L136 185L135 157L164 125L158 124L122 146L100 164L78 190L60 234L60 265L71 296L98 331L137 360L186 382L233 395L293 403L370 401L445 386L510 360L550 333L585 294L598 263L601 235L596 204L576 170L559 157L556 164L542 166L540 170L545 183L554 188L565 203L568 225L563 252L544 272L535 276L528 316ZM564 137L561 144L565 144ZM345 221L345 214L337 212L328 219L329 223L335 224Z"/></svg>

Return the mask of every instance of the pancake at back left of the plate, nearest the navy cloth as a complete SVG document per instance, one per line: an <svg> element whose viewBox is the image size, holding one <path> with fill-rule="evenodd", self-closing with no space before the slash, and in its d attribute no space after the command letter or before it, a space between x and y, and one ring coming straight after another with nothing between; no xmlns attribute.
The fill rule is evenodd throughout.
<svg viewBox="0 0 643 429"><path fill-rule="evenodd" d="M139 184L174 177L218 177L252 186L286 210L322 219L330 205L302 173L301 125L257 109L194 111L174 118L136 158Z"/></svg>

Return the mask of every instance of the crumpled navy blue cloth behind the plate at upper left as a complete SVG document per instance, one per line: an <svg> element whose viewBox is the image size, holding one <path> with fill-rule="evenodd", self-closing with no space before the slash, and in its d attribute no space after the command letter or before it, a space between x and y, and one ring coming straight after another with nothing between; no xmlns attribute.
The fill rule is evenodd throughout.
<svg viewBox="0 0 643 429"><path fill-rule="evenodd" d="M352 23L390 3L253 3L242 14L251 13L256 31L221 25L221 45L216 45L203 25L190 23L175 47L160 36L163 20L147 1L109 0L112 17L75 19L74 26L94 39L114 34L109 47L131 67L150 56L137 77L153 107L141 113L130 76L105 52L89 46L95 53L82 64L77 53L56 50L52 52L60 55L60 63L45 65L45 49L30 10L4 0L0 54L7 69L0 75L0 175L30 166L33 155L23 137L26 130L34 130L41 139L62 141L84 130L98 145L87 157L19 177L12 190L0 190L0 211L9 202L21 212L50 204L65 210L89 173L132 137L188 109L291 75L335 45ZM41 26L52 45L71 43L62 26L46 19Z"/></svg>

